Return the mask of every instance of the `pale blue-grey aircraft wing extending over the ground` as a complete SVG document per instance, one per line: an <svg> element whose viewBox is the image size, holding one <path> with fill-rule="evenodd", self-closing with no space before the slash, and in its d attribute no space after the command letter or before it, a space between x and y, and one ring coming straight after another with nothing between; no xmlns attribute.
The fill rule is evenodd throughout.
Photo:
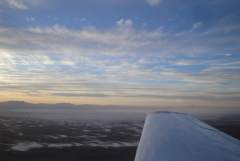
<svg viewBox="0 0 240 161"><path fill-rule="evenodd" d="M240 161L240 141L182 113L147 116L135 161Z"/></svg>

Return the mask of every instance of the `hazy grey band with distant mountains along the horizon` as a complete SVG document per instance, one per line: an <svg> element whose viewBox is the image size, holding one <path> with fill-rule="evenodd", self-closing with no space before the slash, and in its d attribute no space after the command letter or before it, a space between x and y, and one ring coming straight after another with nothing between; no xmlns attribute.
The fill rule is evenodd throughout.
<svg viewBox="0 0 240 161"><path fill-rule="evenodd" d="M161 106L119 106L119 105L94 105L71 103L31 103L25 101L0 102L1 116L29 117L29 118L54 118L70 121L73 118L85 118L88 120L107 119L130 120L143 119L153 112L177 112L186 113L199 118L215 118L225 116L239 116L240 109L236 107L161 107ZM85 113L87 112L87 113ZM46 116L45 116L46 115ZM100 116L100 117L99 117ZM66 119L68 118L68 119Z"/></svg>

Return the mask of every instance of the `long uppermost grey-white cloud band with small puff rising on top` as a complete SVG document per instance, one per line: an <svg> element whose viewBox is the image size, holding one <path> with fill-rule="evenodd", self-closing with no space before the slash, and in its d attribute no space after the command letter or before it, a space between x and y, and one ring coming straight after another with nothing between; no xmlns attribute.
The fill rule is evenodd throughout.
<svg viewBox="0 0 240 161"><path fill-rule="evenodd" d="M94 28L71 30L57 24L27 29L2 28L0 41L5 48L19 49L19 51L31 50L75 55L93 55L94 53L141 55L143 57L148 53L147 56L168 57L176 54L198 55L219 50L231 50L230 45L223 46L222 43L239 39L237 36L232 36L229 40L225 37L215 39L210 36L202 37L200 33L185 33L175 36L168 31L136 30L132 24L131 20L121 19L115 28L108 31ZM20 36L16 37L15 34Z"/></svg>

